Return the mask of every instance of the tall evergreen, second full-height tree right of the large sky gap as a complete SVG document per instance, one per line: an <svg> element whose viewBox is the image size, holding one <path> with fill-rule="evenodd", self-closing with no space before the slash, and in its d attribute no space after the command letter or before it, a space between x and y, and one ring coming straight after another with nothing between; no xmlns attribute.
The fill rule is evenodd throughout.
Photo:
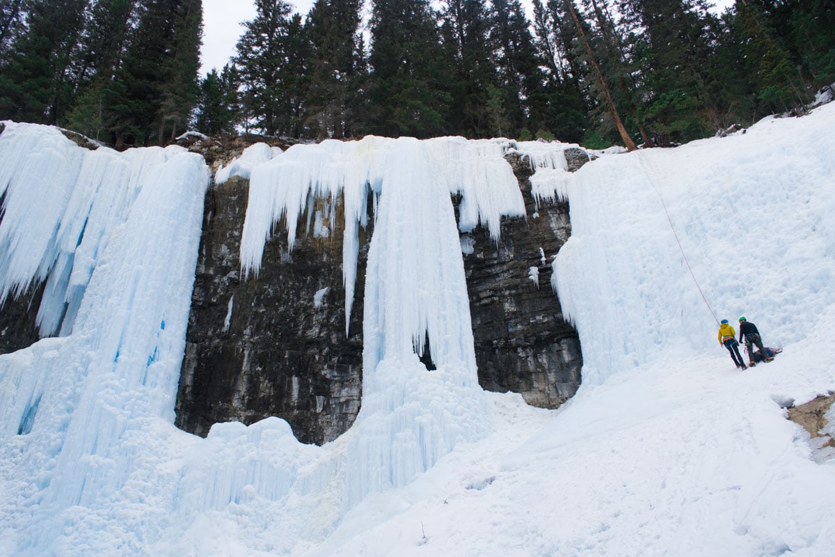
<svg viewBox="0 0 835 557"><path fill-rule="evenodd" d="M359 0L316 0L307 16L306 127L319 139L350 137L361 117L356 94L362 76L360 8Z"/></svg>

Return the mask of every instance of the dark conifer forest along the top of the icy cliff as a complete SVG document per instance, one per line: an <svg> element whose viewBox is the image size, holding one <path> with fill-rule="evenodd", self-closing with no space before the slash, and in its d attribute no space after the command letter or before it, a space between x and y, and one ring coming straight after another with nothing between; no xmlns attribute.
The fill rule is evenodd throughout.
<svg viewBox="0 0 835 557"><path fill-rule="evenodd" d="M0 0L0 119L117 149L187 129L667 145L802 113L832 0L256 0L200 75L200 0ZM363 17L369 13L368 17Z"/></svg>

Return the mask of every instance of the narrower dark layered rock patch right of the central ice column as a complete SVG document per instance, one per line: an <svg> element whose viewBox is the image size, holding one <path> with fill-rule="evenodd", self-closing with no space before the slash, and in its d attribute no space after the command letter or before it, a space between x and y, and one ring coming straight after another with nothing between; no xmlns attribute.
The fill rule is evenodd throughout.
<svg viewBox="0 0 835 557"><path fill-rule="evenodd" d="M536 207L529 160L509 155L509 163L528 219L504 219L498 244L487 230L475 230L473 253L464 256L478 382L489 391L519 392L534 406L557 408L577 391L583 366L577 332L565 322L550 285L551 261L571 234L569 207Z"/></svg>

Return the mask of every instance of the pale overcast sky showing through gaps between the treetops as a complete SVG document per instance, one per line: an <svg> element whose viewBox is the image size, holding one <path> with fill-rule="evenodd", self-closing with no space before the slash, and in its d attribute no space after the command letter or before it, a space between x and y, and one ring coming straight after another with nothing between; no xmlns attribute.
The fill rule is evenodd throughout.
<svg viewBox="0 0 835 557"><path fill-rule="evenodd" d="M296 11L306 15L314 0L291 2ZM731 6L734 0L714 0L717 8ZM528 17L533 16L530 0L522 0ZM235 43L244 32L240 23L255 16L255 3L251 0L203 0L203 50L201 73L211 68L223 68L235 53Z"/></svg>

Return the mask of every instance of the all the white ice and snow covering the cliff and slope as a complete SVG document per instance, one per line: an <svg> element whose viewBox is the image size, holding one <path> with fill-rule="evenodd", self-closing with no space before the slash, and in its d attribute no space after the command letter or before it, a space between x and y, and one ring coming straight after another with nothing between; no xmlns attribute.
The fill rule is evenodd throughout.
<svg viewBox="0 0 835 557"><path fill-rule="evenodd" d="M493 193L500 173L478 190L448 165L493 165L501 143L317 148L336 153L320 167L331 181L300 188L380 201L362 412L321 448L278 418L219 424L206 439L174 428L205 167L170 149L136 175L145 154L79 154L51 134L8 124L0 135L0 294L59 267L67 278L48 323L57 327L56 300L78 306L66 336L0 356L0 555L832 555L835 451L813 448L781 403L835 391L835 104L746 134L607 155L574 175L546 164L555 157L541 145L516 146L543 161L542 202L571 206L572 237L545 255L579 331L584 385L555 411L482 392L468 316L447 307L465 296L447 192L470 192L482 222L518 207ZM322 154L302 149L253 152L227 173L269 191L281 165L297 170L292 157ZM33 153L48 154L18 168ZM131 185L104 197L107 218L89 195L104 170L78 178L101 164L93 156ZM3 174L9 165L23 178ZM38 167L59 190L30 191ZM366 190L352 172L372 168ZM392 190L417 180L434 190ZM251 261L276 215L311 193L294 192L248 216L261 230ZM40 207L52 220L8 209L33 199L52 200ZM404 222L423 241L403 236ZM96 243L75 255L88 229ZM419 278L415 258L443 281ZM415 281L442 296L410 292ZM716 320L736 326L741 315L784 348L774 362L739 372L716 342ZM444 337L437 372L411 353L421 327Z"/></svg>

